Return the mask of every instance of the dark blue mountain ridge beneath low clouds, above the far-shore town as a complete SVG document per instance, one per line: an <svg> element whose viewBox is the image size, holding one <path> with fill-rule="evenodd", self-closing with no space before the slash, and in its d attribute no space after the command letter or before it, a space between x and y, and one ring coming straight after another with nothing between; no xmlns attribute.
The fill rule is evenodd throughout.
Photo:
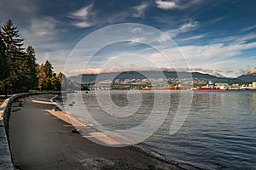
<svg viewBox="0 0 256 170"><path fill-rule="evenodd" d="M163 74L167 79L173 78L190 78L191 75L195 79L202 80L212 80L213 82L253 82L256 81L255 74L252 75L243 75L237 78L227 78L227 77L215 77L209 74L203 74L200 72L186 72L186 71L124 71L124 72L112 72L112 73L101 73L99 75L96 74L83 74L79 76L68 77L67 79L72 82L102 82L105 80L113 80L119 79L119 81L124 81L125 79L144 79L148 78L162 78Z"/></svg>

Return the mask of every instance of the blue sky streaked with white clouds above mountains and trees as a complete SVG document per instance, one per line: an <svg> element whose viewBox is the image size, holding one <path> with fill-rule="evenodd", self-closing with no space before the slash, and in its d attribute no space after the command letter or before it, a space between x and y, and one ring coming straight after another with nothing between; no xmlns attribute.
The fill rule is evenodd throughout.
<svg viewBox="0 0 256 170"><path fill-rule="evenodd" d="M253 0L1 0L35 48L67 76L111 71L256 73Z"/></svg>

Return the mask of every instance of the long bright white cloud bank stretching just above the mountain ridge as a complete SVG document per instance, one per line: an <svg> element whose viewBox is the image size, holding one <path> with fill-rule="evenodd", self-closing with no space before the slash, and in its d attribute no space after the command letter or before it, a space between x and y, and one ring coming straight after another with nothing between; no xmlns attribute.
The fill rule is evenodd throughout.
<svg viewBox="0 0 256 170"><path fill-rule="evenodd" d="M99 73L99 72L114 72L114 71L152 71L154 69L162 70L173 70L174 71L201 71L216 75L218 73L223 74L225 77L236 77L241 74L237 74L237 69L245 68L247 65L252 65L250 59L237 58L236 56L242 54L243 50L249 48L256 48L256 42L250 43L236 43L224 45L223 43L202 45L202 46L181 46L179 48L166 48L162 50L166 54L167 59L163 54L152 53L152 51L143 51L135 52L135 54L141 54L144 58L136 58L134 56L131 59L121 58L119 59L116 56L121 56L121 54L115 54L114 57L104 58L104 63L113 63L113 65L106 65L102 68L100 67L88 67L86 70L76 70L78 74L82 72L86 73ZM181 50L182 53L179 51ZM126 51L125 54L131 52ZM184 54L184 56L183 56ZM124 60L123 59L127 59ZM154 66L149 65L145 62L145 59L148 63L153 63ZM188 65L185 60L188 60ZM113 61L112 61L113 60ZM115 61L118 61L119 65ZM119 62L120 61L120 62ZM121 63L121 61L123 63ZM144 64L145 63L145 64ZM129 66L133 64L132 66ZM98 65L98 63L97 63ZM75 68L75 67L74 67ZM163 69L165 68L165 69ZM247 72L254 71L253 69L248 70ZM74 74L75 72L70 72Z"/></svg>

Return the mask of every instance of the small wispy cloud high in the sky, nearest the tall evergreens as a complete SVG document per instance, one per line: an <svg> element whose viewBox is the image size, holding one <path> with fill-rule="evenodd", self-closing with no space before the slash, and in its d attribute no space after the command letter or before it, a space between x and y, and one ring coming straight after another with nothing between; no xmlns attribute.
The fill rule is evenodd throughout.
<svg viewBox="0 0 256 170"><path fill-rule="evenodd" d="M90 20L90 15L92 14L90 13L90 9L92 8L92 6L93 5L90 4L68 14L68 17L74 20L72 22L72 25L80 28L87 28L92 26L94 24L94 22Z"/></svg>

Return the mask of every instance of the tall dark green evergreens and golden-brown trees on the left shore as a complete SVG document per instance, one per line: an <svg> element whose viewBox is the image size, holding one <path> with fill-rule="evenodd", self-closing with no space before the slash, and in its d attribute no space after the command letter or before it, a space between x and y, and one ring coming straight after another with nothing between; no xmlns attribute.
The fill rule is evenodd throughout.
<svg viewBox="0 0 256 170"><path fill-rule="evenodd" d="M39 65L34 48L23 48L23 42L12 20L0 25L0 94L61 90L61 83L65 88L66 76L56 74L48 60Z"/></svg>

